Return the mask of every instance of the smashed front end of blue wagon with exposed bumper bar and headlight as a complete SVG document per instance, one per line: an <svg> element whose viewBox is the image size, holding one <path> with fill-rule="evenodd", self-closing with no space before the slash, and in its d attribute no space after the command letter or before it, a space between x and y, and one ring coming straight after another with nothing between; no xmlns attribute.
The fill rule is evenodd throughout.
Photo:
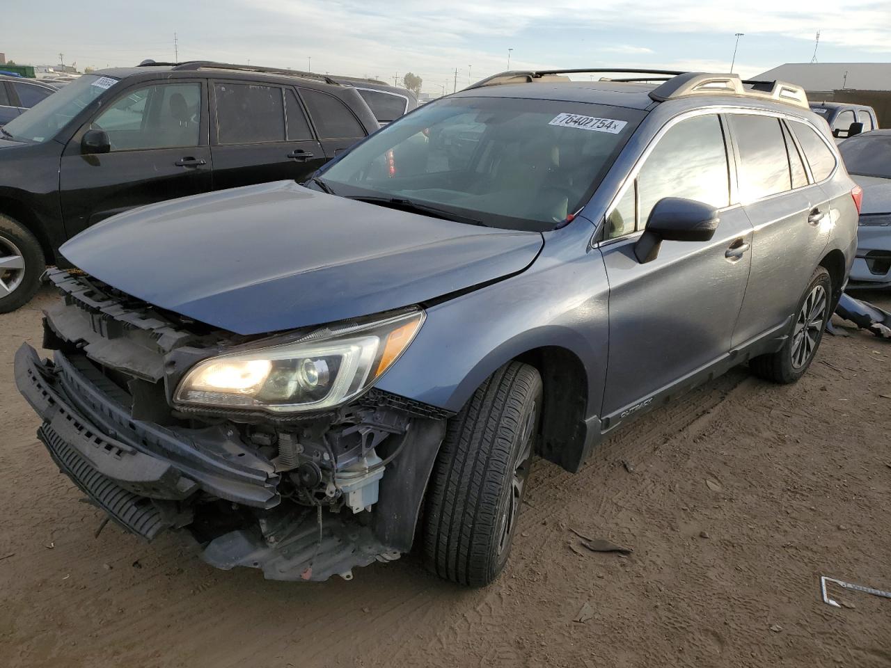
<svg viewBox="0 0 891 668"><path fill-rule="evenodd" d="M370 384L417 312L244 337L49 277L63 296L45 312L53 361L23 345L16 383L53 460L117 524L150 541L187 529L211 565L274 580L349 579L411 549L450 413ZM373 336L374 354L355 343ZM282 353L295 346L314 356Z"/></svg>

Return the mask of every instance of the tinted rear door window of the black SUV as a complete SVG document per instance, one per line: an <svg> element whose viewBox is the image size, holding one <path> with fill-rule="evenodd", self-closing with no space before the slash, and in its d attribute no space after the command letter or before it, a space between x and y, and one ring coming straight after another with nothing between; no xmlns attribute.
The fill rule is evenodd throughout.
<svg viewBox="0 0 891 668"><path fill-rule="evenodd" d="M217 83L217 142L283 142L282 88L254 84Z"/></svg>

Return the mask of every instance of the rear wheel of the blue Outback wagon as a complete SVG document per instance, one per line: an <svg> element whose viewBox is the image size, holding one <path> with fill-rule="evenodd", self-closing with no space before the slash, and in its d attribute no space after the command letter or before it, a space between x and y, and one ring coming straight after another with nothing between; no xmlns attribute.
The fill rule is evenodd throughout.
<svg viewBox="0 0 891 668"><path fill-rule="evenodd" d="M819 307L818 298L814 297L813 305L808 301L817 293L822 294L822 313L819 318L814 315ZM786 343L776 353L755 357L748 363L748 368L756 376L774 383L794 383L804 376L820 347L826 322L832 316L831 304L830 273L825 267L818 266L807 283L805 294L798 300Z"/></svg>

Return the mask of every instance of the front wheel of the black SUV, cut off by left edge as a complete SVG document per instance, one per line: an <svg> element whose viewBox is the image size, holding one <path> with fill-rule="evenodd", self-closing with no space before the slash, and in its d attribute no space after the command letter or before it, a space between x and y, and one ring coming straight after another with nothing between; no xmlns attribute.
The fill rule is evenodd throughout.
<svg viewBox="0 0 891 668"><path fill-rule="evenodd" d="M20 257L24 267L0 267L0 314L28 304L40 287L40 276L46 269L40 242L22 224L0 214L0 259L13 256Z"/></svg>

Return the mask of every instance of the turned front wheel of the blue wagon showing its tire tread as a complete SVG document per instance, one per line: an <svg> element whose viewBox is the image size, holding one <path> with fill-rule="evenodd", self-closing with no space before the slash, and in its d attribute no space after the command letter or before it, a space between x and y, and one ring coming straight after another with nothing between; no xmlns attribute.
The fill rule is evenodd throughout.
<svg viewBox="0 0 891 668"><path fill-rule="evenodd" d="M425 560L433 573L471 587L501 573L526 492L541 405L538 371L511 362L449 420L424 519Z"/></svg>

